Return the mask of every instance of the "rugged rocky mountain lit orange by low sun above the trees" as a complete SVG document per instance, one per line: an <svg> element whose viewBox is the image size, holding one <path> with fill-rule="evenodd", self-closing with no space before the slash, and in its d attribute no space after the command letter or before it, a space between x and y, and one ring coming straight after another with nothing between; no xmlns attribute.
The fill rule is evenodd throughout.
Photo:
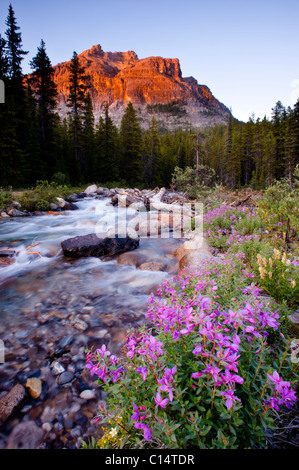
<svg viewBox="0 0 299 470"><path fill-rule="evenodd" d="M119 125L131 101L142 126L147 126L153 116L167 128L227 122L228 108L195 78L183 78L178 59L138 59L133 51L104 52L100 45L82 52L79 59L90 76L96 120L108 102L109 115ZM68 64L54 66L61 115L67 112Z"/></svg>

